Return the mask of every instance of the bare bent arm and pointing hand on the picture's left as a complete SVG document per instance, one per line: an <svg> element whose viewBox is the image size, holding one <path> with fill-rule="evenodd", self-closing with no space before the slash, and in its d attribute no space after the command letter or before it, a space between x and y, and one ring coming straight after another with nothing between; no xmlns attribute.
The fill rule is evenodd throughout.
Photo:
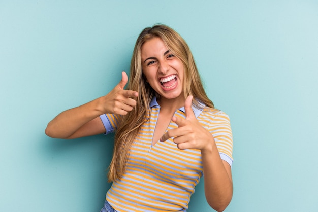
<svg viewBox="0 0 318 212"><path fill-rule="evenodd" d="M122 72L121 81L111 92L60 113L48 123L45 134L54 138L71 139L105 132L100 115L106 113L126 115L136 105L136 101L131 97L137 97L138 93L124 90L127 82L127 74Z"/></svg>

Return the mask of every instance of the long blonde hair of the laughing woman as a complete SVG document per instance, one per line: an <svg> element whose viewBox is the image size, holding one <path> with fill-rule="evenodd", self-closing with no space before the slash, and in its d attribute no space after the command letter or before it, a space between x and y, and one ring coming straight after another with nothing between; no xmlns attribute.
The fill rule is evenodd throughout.
<svg viewBox="0 0 318 212"><path fill-rule="evenodd" d="M149 102L154 96L157 96L156 92L143 77L141 64L141 47L145 42L153 38L161 38L167 48L183 63L183 85L186 85L183 87L184 97L193 95L195 107L200 107L198 102L200 101L208 107L214 108L213 102L207 97L204 91L195 60L183 38L175 30L163 24L156 24L153 27L145 28L140 33L135 44L127 87L128 90L138 92L138 97L134 98L137 101L137 105L127 115L121 117L118 129L116 130L114 154L108 172L109 182L119 180L124 174L132 143L142 124L145 120L149 119ZM157 98L160 98L160 96L157 96Z"/></svg>

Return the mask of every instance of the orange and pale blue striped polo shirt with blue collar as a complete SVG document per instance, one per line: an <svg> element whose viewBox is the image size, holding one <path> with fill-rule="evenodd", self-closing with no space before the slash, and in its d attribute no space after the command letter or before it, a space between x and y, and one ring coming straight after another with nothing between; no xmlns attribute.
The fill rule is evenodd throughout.
<svg viewBox="0 0 318 212"><path fill-rule="evenodd" d="M173 138L152 146L152 135L160 111L154 98L151 115L142 125L129 151L122 178L113 182L106 200L117 211L186 211L190 196L203 175L200 150L179 150ZM229 117L217 109L204 107L193 111L214 137L222 160L232 165L232 131ZM184 108L174 116L185 118ZM100 116L111 133L117 128L118 115ZM178 127L171 122L167 130Z"/></svg>

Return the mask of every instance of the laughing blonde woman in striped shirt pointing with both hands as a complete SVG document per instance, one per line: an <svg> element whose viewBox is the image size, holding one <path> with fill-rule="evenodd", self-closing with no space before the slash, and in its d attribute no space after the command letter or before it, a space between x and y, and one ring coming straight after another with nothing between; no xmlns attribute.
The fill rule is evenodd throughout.
<svg viewBox="0 0 318 212"><path fill-rule="evenodd" d="M46 128L55 138L105 131L116 134L113 184L101 211L186 211L203 174L209 205L222 211L230 203L229 118L214 109L189 47L170 27L141 32L129 82L122 72L106 96L62 112Z"/></svg>

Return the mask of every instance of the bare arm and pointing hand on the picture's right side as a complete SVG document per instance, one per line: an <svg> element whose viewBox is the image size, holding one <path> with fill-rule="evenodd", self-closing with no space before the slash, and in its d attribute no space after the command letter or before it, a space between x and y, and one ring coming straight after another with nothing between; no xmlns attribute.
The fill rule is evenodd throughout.
<svg viewBox="0 0 318 212"><path fill-rule="evenodd" d="M233 194L231 166L220 158L214 137L197 120L191 107L192 99L188 96L184 103L186 118L173 117L178 128L169 130L160 140L174 137L174 143L181 150L201 150L205 197L213 209L223 211Z"/></svg>

